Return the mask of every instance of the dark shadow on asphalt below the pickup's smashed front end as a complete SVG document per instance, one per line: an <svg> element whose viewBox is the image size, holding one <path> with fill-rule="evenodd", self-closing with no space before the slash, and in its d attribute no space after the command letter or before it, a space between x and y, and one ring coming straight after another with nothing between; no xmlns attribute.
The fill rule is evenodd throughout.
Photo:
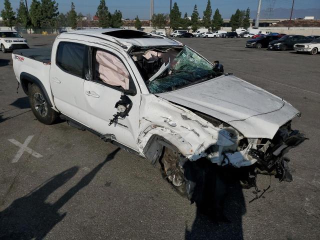
<svg viewBox="0 0 320 240"><path fill-rule="evenodd" d="M204 215L197 208L196 217L190 230L185 230L185 240L215 239L242 240L242 215L245 213L245 203L242 187L239 181L227 183L226 198L223 202L222 221L216 221Z"/></svg>

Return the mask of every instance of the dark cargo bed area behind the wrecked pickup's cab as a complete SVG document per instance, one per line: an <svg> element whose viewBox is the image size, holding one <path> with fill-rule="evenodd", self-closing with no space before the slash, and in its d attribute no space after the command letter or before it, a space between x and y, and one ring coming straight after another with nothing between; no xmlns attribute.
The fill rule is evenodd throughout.
<svg viewBox="0 0 320 240"><path fill-rule="evenodd" d="M14 50L13 54L28 57L44 63L51 61L51 48L49 47L18 49Z"/></svg>

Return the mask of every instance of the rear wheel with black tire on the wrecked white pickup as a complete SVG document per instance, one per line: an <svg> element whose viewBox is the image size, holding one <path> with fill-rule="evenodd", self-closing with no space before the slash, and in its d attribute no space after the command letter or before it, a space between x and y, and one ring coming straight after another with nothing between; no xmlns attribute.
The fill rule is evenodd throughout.
<svg viewBox="0 0 320 240"><path fill-rule="evenodd" d="M36 84L29 84L28 95L30 107L35 117L46 125L52 124L58 113L49 106L41 89Z"/></svg>

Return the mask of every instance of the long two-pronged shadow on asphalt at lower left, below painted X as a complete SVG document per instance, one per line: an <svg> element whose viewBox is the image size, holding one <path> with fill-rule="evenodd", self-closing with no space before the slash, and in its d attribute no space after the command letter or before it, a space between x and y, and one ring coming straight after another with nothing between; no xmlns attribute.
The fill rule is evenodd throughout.
<svg viewBox="0 0 320 240"><path fill-rule="evenodd" d="M105 160L94 167L81 180L65 192L54 203L46 202L47 197L62 186L78 171L71 167L42 183L27 195L14 200L0 212L0 239L42 239L65 215L59 209L80 189L87 186L101 167L113 159L120 148L107 155Z"/></svg>

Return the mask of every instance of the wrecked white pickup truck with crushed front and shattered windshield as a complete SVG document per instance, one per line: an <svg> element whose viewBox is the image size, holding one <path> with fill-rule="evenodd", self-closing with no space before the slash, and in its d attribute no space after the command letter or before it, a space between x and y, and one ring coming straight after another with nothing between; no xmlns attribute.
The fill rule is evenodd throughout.
<svg viewBox="0 0 320 240"><path fill-rule="evenodd" d="M19 50L12 59L39 121L60 115L160 162L168 181L197 204L215 197L202 194L217 182L211 167L289 178L283 154L305 139L291 129L300 112L290 103L166 37L78 30L58 35L52 51Z"/></svg>

